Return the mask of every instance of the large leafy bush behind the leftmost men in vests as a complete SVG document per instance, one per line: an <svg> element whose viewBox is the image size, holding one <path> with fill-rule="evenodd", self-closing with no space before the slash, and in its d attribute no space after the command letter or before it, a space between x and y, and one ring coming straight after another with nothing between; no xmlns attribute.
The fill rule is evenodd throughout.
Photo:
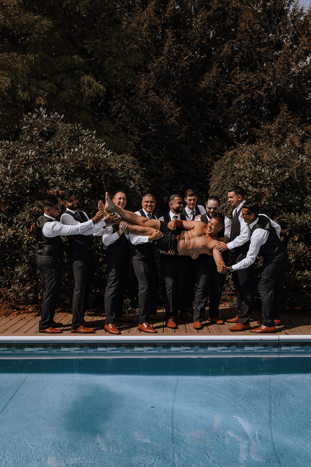
<svg viewBox="0 0 311 467"><path fill-rule="evenodd" d="M40 202L44 195L49 192L57 196L59 191L72 188L80 208L91 217L106 189L113 193L122 186L128 194L129 208L131 203L136 207L144 179L130 156L111 153L95 132L66 124L56 113L48 116L41 109L25 117L24 124L19 141L0 142L0 284L4 296L29 300L34 297L40 277L35 266L32 224L43 213ZM97 271L93 290L101 297L106 281L100 237L95 239L94 247ZM62 292L66 296L72 285L65 254Z"/></svg>

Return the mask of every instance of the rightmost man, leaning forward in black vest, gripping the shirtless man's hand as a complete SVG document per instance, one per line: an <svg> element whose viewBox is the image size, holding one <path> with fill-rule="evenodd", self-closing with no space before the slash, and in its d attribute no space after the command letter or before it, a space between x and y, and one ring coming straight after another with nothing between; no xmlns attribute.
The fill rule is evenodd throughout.
<svg viewBox="0 0 311 467"><path fill-rule="evenodd" d="M281 227L264 214L259 214L257 203L248 202L243 205L241 217L249 226L251 237L246 258L227 266L218 266L223 274L234 273L248 268L257 255L263 256L258 292L263 305L262 324L250 330L251 333L275 333L275 324L280 324L279 312L283 288L283 276L287 262L287 251L280 241Z"/></svg>

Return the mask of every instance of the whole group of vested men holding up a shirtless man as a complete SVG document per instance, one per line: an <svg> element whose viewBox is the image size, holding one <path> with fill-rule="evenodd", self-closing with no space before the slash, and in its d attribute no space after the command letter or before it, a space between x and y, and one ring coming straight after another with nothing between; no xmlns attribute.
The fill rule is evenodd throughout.
<svg viewBox="0 0 311 467"><path fill-rule="evenodd" d="M98 212L89 219L78 210L76 192L62 192L66 211L57 220L61 208L58 199L47 196L42 201L44 214L37 219L38 255L36 264L43 285L43 303L39 333L57 334L62 323L54 320L62 278L62 238L68 236L69 260L75 289L72 300L72 333L94 333L84 320L94 276L93 236L101 236L106 258L107 286L104 297L106 332L121 334L116 323L131 322L123 314L123 295L131 258L138 279L138 329L157 333L150 321L163 321L177 328L192 321L194 329L202 328L209 297L209 320L221 325L219 303L226 274L232 274L238 312L228 319L230 331L275 333L287 252L280 241L281 228L259 213L257 203L246 202L244 190L232 186L228 202L234 208L232 220L220 212L220 199L210 196L206 207L197 205L194 190L182 198L169 197L170 211L159 219L154 215L155 198L145 193L142 208L126 211L126 195L117 191L112 199L106 193L105 203L98 202ZM165 317L157 314L158 270L154 252L158 249L165 282ZM233 253L228 266L228 250ZM262 299L263 321L250 329L253 310L253 266L258 254L263 257L258 291ZM194 299L194 309L192 307Z"/></svg>

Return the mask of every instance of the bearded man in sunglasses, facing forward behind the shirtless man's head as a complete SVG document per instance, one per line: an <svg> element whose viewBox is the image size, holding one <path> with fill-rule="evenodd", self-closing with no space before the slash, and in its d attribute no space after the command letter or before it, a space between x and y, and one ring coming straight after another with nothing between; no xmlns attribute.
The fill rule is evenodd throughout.
<svg viewBox="0 0 311 467"><path fill-rule="evenodd" d="M217 237L220 241L227 242L230 237L231 222L227 216L219 212L220 199L217 196L210 196L206 203L206 212L198 216L197 220L208 224L211 219L220 216L224 220L224 226L218 232ZM225 263L228 265L228 251L222 255ZM219 318L219 303L221 292L226 280L226 276L217 272L216 263L211 255L199 255L194 261L195 277L197 288L194 297L194 329L201 329L201 322L204 318L207 299L209 295L209 320L215 324L224 324Z"/></svg>

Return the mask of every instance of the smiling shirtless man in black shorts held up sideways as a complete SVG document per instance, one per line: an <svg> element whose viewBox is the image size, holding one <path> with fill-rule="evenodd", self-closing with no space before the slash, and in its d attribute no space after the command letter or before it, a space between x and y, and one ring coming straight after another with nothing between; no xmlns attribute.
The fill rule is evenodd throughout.
<svg viewBox="0 0 311 467"><path fill-rule="evenodd" d="M163 251L173 250L177 255L206 253L213 255L216 264L224 264L221 251L215 249L218 244L217 233L224 225L221 217L213 217L208 224L200 221L171 220L168 224L158 219L147 219L131 211L125 211L113 204L106 193L106 204L99 201L102 211L113 211L128 223L131 233L149 237L152 245Z"/></svg>

